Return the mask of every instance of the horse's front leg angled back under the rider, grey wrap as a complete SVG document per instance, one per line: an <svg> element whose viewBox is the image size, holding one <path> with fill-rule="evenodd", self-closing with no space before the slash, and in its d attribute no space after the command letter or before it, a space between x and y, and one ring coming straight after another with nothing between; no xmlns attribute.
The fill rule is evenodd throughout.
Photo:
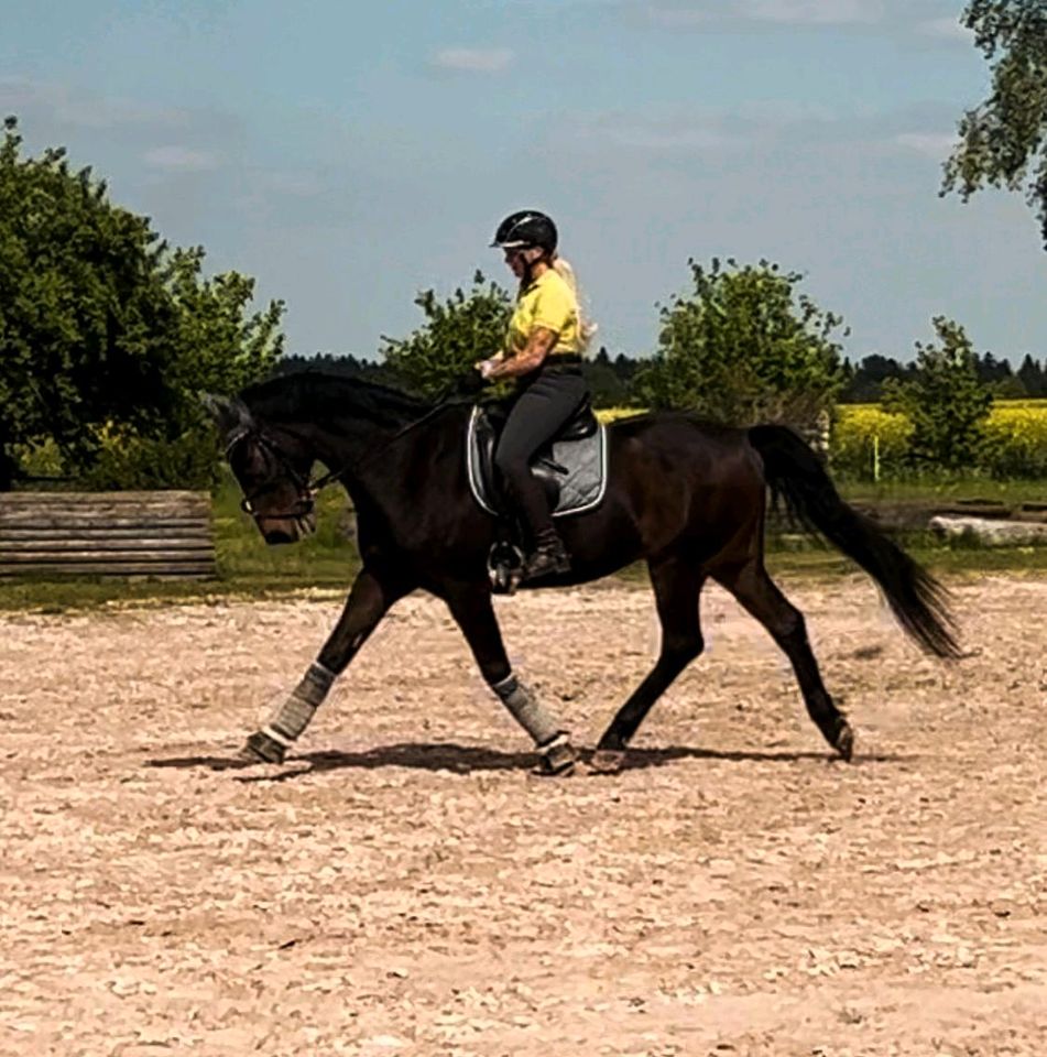
<svg viewBox="0 0 1047 1057"><path fill-rule="evenodd" d="M577 753L568 732L546 711L534 690L513 673L487 587L448 591L447 604L476 657L480 673L538 750L536 774L568 774Z"/></svg>

